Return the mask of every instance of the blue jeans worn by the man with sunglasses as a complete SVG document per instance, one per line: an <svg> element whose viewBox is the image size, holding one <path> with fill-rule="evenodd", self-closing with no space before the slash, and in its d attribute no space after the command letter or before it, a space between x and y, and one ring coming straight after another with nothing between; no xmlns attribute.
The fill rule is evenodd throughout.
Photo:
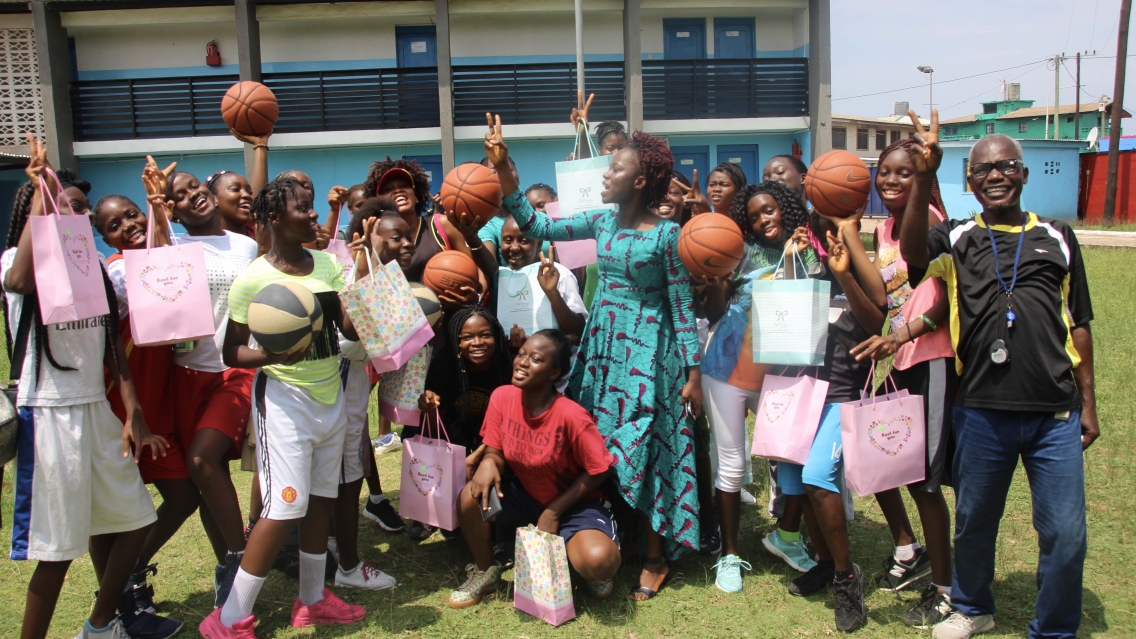
<svg viewBox="0 0 1136 639"><path fill-rule="evenodd" d="M966 615L994 614L994 551L1005 497L1021 458L1029 478L1037 563L1037 619L1029 637L1072 638L1080 625L1085 567L1085 467L1080 410L1052 413L954 407L957 449L954 586Z"/></svg>

